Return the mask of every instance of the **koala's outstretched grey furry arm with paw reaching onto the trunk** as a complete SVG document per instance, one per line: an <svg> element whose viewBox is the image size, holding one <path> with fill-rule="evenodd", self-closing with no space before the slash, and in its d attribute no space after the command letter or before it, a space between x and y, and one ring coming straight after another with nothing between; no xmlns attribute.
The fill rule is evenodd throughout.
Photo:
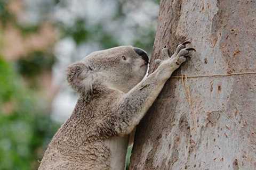
<svg viewBox="0 0 256 170"><path fill-rule="evenodd" d="M172 57L169 57L167 49L164 48L162 55L165 60L158 60L161 64L157 70L122 97L113 120L117 135L129 134L139 124L173 71L186 61L189 50L194 50L194 48L186 48L186 43L179 45Z"/></svg>

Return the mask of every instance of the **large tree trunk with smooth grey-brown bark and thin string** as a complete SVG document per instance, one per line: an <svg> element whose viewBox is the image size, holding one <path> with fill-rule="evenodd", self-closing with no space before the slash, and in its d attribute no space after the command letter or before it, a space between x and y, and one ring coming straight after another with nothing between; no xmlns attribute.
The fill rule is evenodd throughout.
<svg viewBox="0 0 256 170"><path fill-rule="evenodd" d="M163 0L158 21L153 60L197 51L138 125L130 169L256 169L256 1Z"/></svg>

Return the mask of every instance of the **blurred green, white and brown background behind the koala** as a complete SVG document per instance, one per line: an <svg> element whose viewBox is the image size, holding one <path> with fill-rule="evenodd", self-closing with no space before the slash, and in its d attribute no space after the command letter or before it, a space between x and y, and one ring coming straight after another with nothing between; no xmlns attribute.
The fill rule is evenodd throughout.
<svg viewBox="0 0 256 170"><path fill-rule="evenodd" d="M133 45L150 54L157 0L0 0L0 170L37 169L77 95L66 67Z"/></svg>

